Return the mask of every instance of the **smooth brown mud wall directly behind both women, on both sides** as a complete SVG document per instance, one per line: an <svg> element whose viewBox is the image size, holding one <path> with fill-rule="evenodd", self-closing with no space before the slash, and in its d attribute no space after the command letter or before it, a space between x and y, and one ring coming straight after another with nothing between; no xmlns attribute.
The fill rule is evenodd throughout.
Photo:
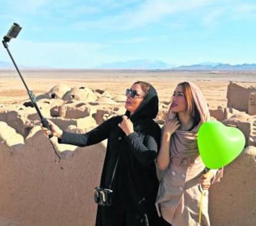
<svg viewBox="0 0 256 226"><path fill-rule="evenodd" d="M53 147L38 126L22 147L3 142L0 150L0 216L23 226L94 225L93 188L100 182L104 143L63 151L55 163ZM250 146L224 167L223 179L210 190L211 225L253 225L255 158Z"/></svg>

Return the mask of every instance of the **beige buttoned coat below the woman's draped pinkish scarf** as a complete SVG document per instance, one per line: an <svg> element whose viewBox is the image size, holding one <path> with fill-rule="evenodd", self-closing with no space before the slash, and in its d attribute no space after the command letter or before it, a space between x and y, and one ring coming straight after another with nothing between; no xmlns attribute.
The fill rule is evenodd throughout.
<svg viewBox="0 0 256 226"><path fill-rule="evenodd" d="M160 187L156 198L159 216L172 226L210 225L208 191L202 201L202 222L198 223L201 190L198 178L205 169L200 156L172 158L170 167L158 171Z"/></svg>

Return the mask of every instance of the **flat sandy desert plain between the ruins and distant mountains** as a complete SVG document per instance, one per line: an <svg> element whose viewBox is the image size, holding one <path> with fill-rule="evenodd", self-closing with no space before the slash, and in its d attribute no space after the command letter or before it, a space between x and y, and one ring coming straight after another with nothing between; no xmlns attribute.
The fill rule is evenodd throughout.
<svg viewBox="0 0 256 226"><path fill-rule="evenodd" d="M256 73L210 73L187 71L135 70L20 70L33 94L45 94L56 84L69 87L103 89L110 94L124 94L134 81L148 81L155 86L160 102L168 102L176 84L192 81L205 95L211 109L226 107L229 81L256 86ZM25 86L15 70L0 70L0 104L19 103L28 99Z"/></svg>

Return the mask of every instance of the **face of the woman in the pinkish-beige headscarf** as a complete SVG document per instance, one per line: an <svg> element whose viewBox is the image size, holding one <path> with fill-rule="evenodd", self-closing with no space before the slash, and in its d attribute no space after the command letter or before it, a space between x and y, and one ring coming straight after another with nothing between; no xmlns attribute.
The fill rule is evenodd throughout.
<svg viewBox="0 0 256 226"><path fill-rule="evenodd" d="M177 86L171 100L170 110L174 113L181 113L187 111L187 101L182 91L182 86Z"/></svg>

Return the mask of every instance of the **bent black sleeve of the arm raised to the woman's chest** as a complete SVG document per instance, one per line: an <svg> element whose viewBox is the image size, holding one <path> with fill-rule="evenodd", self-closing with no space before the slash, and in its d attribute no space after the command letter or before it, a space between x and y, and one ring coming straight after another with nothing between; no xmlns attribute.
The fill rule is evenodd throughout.
<svg viewBox="0 0 256 226"><path fill-rule="evenodd" d="M126 139L130 144L132 153L140 164L148 165L152 163L158 153L159 142L161 137L160 129L156 134L148 134L142 140L137 132L129 134Z"/></svg>

